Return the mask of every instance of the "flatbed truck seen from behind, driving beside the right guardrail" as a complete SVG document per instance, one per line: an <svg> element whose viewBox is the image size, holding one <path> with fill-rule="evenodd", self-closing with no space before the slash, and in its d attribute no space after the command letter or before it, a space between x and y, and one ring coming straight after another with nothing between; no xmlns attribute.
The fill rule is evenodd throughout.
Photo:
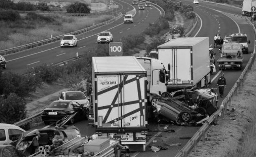
<svg viewBox="0 0 256 157"><path fill-rule="evenodd" d="M240 43L224 43L221 49L221 56L217 60L219 69L242 69L243 66L243 52Z"/></svg>

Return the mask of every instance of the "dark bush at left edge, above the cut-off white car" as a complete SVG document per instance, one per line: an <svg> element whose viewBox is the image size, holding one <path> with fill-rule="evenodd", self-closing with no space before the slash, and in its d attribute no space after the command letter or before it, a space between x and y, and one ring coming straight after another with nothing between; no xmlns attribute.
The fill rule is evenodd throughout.
<svg viewBox="0 0 256 157"><path fill-rule="evenodd" d="M26 118L24 99L11 93L7 99L0 98L0 123L15 123Z"/></svg>

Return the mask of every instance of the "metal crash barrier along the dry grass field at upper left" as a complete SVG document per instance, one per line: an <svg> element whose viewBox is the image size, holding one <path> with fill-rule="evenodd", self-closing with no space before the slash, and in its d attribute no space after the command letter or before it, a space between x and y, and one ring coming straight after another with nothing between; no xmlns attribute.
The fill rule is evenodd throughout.
<svg viewBox="0 0 256 157"><path fill-rule="evenodd" d="M102 26L105 26L107 24L115 22L118 19L120 19L121 17L122 17L122 15L118 15L117 17L114 17L113 19L110 19L110 20L108 20L106 22L102 22L100 24L96 24L94 26L90 26L90 27L84 28L82 30L77 30L77 31L70 32L70 33L67 33L67 34L74 34L74 35L76 35L76 34L82 34L82 33L85 33L85 32L89 32L91 30L94 30L95 28L100 28ZM41 40L41 41L37 41L37 42L34 42L34 43L29 43L29 44L22 45L22 46L17 46L17 47L13 47L13 48L9 48L9 49L4 49L4 50L0 51L0 55L5 56L7 54L12 54L12 53L15 53L15 52L20 52L20 51L23 51L23 50L26 50L26 49L31 49L31 48L34 48L34 47L39 47L41 45L45 45L45 44L48 44L48 43L59 41L64 35L66 35L66 34L59 35L57 37L52 37L52 38L45 39L45 40Z"/></svg>

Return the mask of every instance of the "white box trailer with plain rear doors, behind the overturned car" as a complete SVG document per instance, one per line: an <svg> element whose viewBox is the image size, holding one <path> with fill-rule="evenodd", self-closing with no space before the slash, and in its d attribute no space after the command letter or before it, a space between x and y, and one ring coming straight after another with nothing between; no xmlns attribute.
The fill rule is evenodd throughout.
<svg viewBox="0 0 256 157"><path fill-rule="evenodd" d="M168 91L210 84L209 37L177 38L159 45L157 53L170 67Z"/></svg>

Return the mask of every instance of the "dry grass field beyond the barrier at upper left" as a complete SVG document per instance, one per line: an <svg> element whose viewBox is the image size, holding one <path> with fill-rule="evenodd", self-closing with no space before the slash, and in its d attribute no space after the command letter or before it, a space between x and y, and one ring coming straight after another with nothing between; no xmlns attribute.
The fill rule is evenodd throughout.
<svg viewBox="0 0 256 157"><path fill-rule="evenodd" d="M88 2L90 0L83 1ZM51 1L51 3L59 5L60 1ZM67 0L63 0L61 3L65 4ZM107 9L105 3L91 3L90 7L93 11ZM31 17L22 14L18 21L0 21L0 50L74 32L111 18L111 15L70 17L51 14Z"/></svg>

